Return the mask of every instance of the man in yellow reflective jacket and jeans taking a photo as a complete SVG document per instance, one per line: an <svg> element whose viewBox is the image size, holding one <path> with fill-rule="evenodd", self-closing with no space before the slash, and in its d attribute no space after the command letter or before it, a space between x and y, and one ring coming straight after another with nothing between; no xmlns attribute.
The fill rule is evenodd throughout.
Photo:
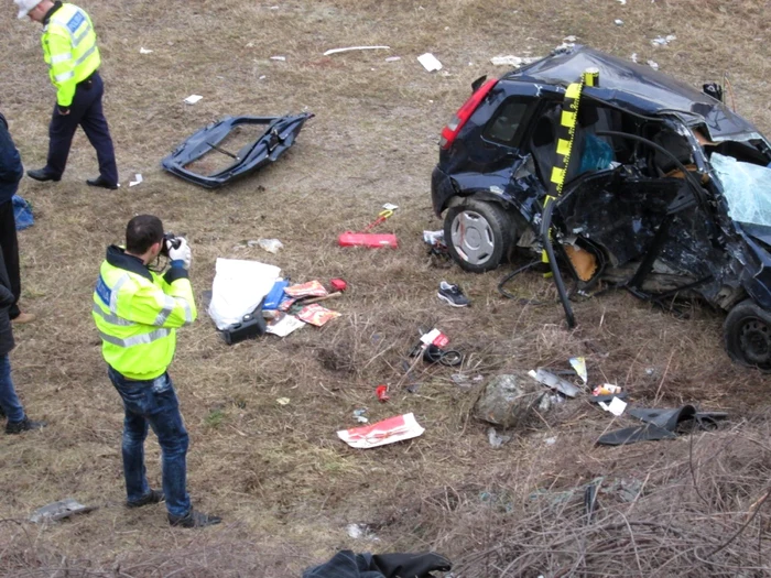
<svg viewBox="0 0 771 578"><path fill-rule="evenodd" d="M153 269L160 257L171 266ZM123 401L123 476L127 505L166 501L173 526L203 527L220 519L193 510L186 490L188 437L166 372L174 357L176 328L196 318L187 269L187 241L163 232L161 219L139 215L126 228L126 248L110 246L94 292L93 315L102 340L108 375ZM152 266L152 269L151 269ZM144 469L148 427L163 457L163 491L153 490Z"/></svg>

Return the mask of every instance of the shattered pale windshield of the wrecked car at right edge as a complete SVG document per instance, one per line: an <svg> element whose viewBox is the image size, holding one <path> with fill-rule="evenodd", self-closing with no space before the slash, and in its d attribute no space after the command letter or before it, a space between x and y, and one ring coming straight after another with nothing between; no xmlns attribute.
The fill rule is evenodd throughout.
<svg viewBox="0 0 771 578"><path fill-rule="evenodd" d="M710 161L723 184L730 217L771 227L771 197L760 194L771 190L771 168L719 153L713 153Z"/></svg>

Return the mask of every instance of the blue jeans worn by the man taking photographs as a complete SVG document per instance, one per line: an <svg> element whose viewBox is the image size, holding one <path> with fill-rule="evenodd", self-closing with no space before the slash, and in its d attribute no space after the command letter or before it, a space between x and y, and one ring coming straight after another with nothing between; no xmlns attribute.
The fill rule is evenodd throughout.
<svg viewBox="0 0 771 578"><path fill-rule="evenodd" d="M163 493L170 514L184 516L191 510L186 490L187 432L182 423L180 402L169 373L149 381L132 381L111 367L107 371L123 399L123 477L129 502L150 493L144 469L144 440L148 426L158 436L163 456Z"/></svg>

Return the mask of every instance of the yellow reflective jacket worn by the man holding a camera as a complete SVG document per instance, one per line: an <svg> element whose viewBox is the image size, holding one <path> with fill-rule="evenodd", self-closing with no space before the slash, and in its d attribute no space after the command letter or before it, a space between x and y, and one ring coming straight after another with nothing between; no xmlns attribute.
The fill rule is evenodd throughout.
<svg viewBox="0 0 771 578"><path fill-rule="evenodd" d="M123 249L110 247L94 291L93 316L105 361L133 380L161 375L174 358L176 328L197 312L187 271L161 276Z"/></svg>

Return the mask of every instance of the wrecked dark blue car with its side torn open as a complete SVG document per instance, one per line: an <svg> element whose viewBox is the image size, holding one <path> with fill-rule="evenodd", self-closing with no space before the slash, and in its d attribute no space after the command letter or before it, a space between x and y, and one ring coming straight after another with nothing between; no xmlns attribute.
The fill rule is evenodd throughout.
<svg viewBox="0 0 771 578"><path fill-rule="evenodd" d="M728 312L731 359L771 371L771 146L721 87L575 46L473 88L432 175L463 269L543 255L569 327L600 281L697 296Z"/></svg>

